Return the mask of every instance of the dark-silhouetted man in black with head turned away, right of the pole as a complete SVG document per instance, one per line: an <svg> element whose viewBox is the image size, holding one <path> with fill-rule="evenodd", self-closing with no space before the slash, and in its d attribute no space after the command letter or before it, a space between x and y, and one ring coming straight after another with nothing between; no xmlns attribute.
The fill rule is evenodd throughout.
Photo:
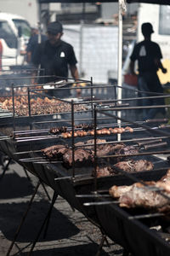
<svg viewBox="0 0 170 256"><path fill-rule="evenodd" d="M154 92L163 92L157 71L161 68L162 73L167 73L167 69L161 64L162 55L159 45L151 41L151 34L154 32L152 25L149 22L143 23L141 29L144 41L136 44L133 49L133 53L130 56L130 73L135 74L134 63L138 61L138 90L142 91L139 95L141 97L156 96ZM142 106L163 105L164 99L141 99L139 102L141 102ZM165 108L144 108L143 119L153 119L158 112L165 114Z"/></svg>

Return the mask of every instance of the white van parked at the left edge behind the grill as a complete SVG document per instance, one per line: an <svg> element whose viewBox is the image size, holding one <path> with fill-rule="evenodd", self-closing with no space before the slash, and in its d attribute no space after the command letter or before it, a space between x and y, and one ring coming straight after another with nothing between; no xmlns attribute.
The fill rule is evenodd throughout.
<svg viewBox="0 0 170 256"><path fill-rule="evenodd" d="M25 61L26 44L31 36L31 26L19 15L0 13L0 42L2 66L22 65Z"/></svg>

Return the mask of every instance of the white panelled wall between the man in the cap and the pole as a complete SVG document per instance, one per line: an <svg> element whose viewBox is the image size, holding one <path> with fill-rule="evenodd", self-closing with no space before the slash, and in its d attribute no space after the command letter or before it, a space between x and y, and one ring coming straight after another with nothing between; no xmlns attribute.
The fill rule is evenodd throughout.
<svg viewBox="0 0 170 256"><path fill-rule="evenodd" d="M117 79L117 26L84 25L81 30L79 25L65 25L62 39L74 47L83 79L93 77L94 83L106 84L110 71Z"/></svg>

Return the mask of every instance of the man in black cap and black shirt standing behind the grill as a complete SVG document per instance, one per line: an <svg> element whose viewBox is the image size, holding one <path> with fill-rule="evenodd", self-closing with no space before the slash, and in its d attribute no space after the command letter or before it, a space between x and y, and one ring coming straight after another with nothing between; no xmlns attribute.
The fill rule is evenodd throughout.
<svg viewBox="0 0 170 256"><path fill-rule="evenodd" d="M61 79L67 78L69 68L72 77L78 80L77 58L74 49L71 44L61 40L62 24L59 21L49 23L47 33L48 40L38 45L32 58L35 65L41 65L41 70L44 70L43 74L49 76L43 82L56 81L53 76L61 77ZM77 94L80 94L79 90Z"/></svg>

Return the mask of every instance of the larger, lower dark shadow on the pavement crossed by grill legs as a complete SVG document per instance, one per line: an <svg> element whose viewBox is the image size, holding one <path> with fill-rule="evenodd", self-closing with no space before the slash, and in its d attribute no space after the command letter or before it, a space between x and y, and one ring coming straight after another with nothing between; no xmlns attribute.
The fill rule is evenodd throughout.
<svg viewBox="0 0 170 256"><path fill-rule="evenodd" d="M14 238L20 220L26 211L28 203L10 203L1 205L1 218L3 221L0 223L0 230L8 240ZM17 241L29 242L34 241L37 232L40 229L42 222L48 212L50 206L48 201L33 202L31 210L26 217L26 222L20 230L20 236ZM48 234L45 241L60 240L77 235L79 229L71 223L61 212L53 208L53 212L48 225ZM39 241L44 241L40 237ZM47 254L46 254L47 255Z"/></svg>

